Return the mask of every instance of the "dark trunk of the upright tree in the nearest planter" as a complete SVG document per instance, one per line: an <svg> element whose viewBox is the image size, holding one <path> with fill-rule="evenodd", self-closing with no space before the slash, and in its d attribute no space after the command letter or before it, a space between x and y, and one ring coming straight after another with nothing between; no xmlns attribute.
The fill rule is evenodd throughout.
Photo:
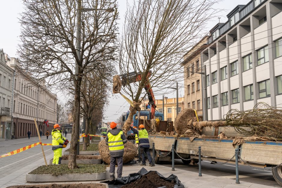
<svg viewBox="0 0 282 188"><path fill-rule="evenodd" d="M79 110L80 110L80 85L81 77L78 77L77 80L74 79L74 116L75 121L73 125L73 130L71 133L71 142L70 142L70 152L69 152L69 161L68 167L70 169L77 168L76 165L76 152L77 152L77 140L79 139Z"/></svg>

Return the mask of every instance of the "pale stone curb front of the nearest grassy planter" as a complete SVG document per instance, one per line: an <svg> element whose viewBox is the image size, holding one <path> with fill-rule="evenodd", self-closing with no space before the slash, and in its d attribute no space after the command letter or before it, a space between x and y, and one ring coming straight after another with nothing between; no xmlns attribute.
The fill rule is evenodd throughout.
<svg viewBox="0 0 282 188"><path fill-rule="evenodd" d="M106 179L106 172L93 174L63 174L58 176L51 174L26 174L27 182L96 181L104 179Z"/></svg>

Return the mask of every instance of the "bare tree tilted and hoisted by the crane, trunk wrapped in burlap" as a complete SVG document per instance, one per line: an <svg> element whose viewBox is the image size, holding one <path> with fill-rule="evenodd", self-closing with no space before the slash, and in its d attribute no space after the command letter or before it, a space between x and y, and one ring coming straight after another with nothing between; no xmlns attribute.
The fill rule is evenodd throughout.
<svg viewBox="0 0 282 188"><path fill-rule="evenodd" d="M119 67L123 88L134 101L124 125L127 131L147 89L164 92L181 78L184 53L206 33L217 16L217 0L138 0L128 7L120 43ZM132 73L140 79L131 84ZM130 74L131 73L131 74Z"/></svg>

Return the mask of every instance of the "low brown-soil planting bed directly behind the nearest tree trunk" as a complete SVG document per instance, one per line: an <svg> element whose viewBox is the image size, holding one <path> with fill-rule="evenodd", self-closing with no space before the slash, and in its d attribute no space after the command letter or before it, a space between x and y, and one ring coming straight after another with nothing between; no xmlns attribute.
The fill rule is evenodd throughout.
<svg viewBox="0 0 282 188"><path fill-rule="evenodd" d="M50 165L52 165L53 159L50 160ZM76 155L77 164L101 164L100 155ZM61 164L68 164L68 155L63 155Z"/></svg>

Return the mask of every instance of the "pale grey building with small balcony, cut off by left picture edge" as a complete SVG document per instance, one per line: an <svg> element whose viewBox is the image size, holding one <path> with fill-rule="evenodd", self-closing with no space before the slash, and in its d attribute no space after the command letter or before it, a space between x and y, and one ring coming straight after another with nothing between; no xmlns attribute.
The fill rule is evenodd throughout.
<svg viewBox="0 0 282 188"><path fill-rule="evenodd" d="M13 69L7 66L3 49L0 49L0 140L10 139Z"/></svg>

